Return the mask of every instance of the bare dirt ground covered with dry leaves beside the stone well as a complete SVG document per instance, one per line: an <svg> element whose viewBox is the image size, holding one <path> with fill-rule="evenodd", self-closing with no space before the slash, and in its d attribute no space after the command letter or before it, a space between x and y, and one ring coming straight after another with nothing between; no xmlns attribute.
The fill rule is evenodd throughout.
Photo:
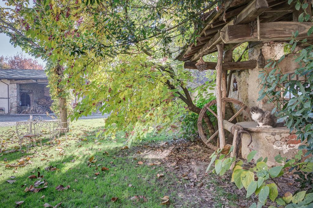
<svg viewBox="0 0 313 208"><path fill-rule="evenodd" d="M163 143L147 143L121 152L120 156L132 154L136 159L146 164L162 163L167 173L176 176L176 183L169 184L179 198L173 199L176 207L249 207L257 202L256 196L246 199L245 189L238 190L230 182L231 172L220 177L211 172L205 173L210 162L209 156L213 150L200 141L190 142L185 139L175 139ZM165 173L166 174L166 173ZM280 178L278 184L286 191L295 188L290 178ZM267 206L273 205L268 200Z"/></svg>

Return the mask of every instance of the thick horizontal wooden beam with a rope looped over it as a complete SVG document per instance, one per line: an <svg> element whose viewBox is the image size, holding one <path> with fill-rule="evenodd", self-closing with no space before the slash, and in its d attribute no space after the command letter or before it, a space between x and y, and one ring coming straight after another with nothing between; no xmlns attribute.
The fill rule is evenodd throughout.
<svg viewBox="0 0 313 208"><path fill-rule="evenodd" d="M227 25L221 32L224 43L241 43L248 41L287 41L290 40L292 32L299 31L298 40L308 38L307 32L313 26L310 22L265 22L260 23L260 37L254 29L252 35L248 24Z"/></svg>

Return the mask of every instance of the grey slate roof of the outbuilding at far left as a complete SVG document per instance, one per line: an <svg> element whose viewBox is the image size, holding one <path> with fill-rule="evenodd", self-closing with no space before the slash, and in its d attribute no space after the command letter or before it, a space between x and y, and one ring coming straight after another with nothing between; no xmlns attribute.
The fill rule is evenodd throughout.
<svg viewBox="0 0 313 208"><path fill-rule="evenodd" d="M44 70L33 69L0 69L0 79L7 80L31 80L43 79L46 80L47 75Z"/></svg>

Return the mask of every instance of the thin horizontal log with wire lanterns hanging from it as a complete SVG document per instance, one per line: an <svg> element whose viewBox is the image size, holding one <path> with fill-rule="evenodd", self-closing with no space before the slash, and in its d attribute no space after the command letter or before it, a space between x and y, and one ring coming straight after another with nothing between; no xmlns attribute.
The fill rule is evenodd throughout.
<svg viewBox="0 0 313 208"><path fill-rule="evenodd" d="M184 64L185 69L197 69L196 61L186 61ZM205 62L207 67L205 70L215 70L217 65L216 62ZM226 62L223 63L223 70L246 70L246 69L254 69L256 67L256 60L249 61L238 61L238 62Z"/></svg>

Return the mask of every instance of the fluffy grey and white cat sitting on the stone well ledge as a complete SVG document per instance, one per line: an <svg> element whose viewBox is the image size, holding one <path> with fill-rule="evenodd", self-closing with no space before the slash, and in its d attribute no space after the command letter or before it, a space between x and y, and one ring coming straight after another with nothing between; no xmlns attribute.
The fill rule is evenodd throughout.
<svg viewBox="0 0 313 208"><path fill-rule="evenodd" d="M258 123L258 128L275 128L276 117L269 111L264 111L259 107L251 107L251 117Z"/></svg>

